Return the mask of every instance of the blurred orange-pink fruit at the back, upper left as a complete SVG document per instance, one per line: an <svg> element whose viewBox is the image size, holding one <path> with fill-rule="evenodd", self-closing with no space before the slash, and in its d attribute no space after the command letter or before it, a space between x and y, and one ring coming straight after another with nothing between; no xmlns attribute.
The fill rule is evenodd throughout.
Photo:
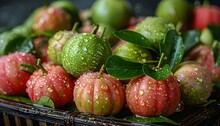
<svg viewBox="0 0 220 126"><path fill-rule="evenodd" d="M32 28L34 32L57 32L69 30L72 27L71 17L65 11L57 7L41 8L36 16Z"/></svg>

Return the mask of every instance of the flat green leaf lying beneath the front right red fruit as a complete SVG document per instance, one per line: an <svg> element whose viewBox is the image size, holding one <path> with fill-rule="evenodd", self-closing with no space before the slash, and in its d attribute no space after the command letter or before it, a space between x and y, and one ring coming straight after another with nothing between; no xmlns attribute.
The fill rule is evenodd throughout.
<svg viewBox="0 0 220 126"><path fill-rule="evenodd" d="M145 123L145 124L152 124L152 123L168 123L172 125L180 125L180 123L177 123L171 119L168 119L164 116L158 116L158 117L141 117L141 116L129 116L124 118L125 120L130 120L134 122L139 123Z"/></svg>

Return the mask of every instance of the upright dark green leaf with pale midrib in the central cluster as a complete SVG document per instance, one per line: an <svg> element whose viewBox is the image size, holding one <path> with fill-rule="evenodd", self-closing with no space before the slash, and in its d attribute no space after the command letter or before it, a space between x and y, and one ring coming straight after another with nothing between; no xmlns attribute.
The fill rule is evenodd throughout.
<svg viewBox="0 0 220 126"><path fill-rule="evenodd" d="M182 37L175 30L168 31L165 39L160 43L160 54L162 53L165 57L165 60L162 60L162 65L168 64L173 71L184 55Z"/></svg>

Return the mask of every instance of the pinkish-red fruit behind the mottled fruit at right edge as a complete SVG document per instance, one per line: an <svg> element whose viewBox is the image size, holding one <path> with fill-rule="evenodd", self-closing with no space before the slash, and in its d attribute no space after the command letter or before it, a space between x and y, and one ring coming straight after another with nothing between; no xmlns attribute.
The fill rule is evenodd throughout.
<svg viewBox="0 0 220 126"><path fill-rule="evenodd" d="M184 57L184 60L193 60L203 64L210 71L212 80L220 82L220 65L214 65L212 48L200 44L190 50Z"/></svg>

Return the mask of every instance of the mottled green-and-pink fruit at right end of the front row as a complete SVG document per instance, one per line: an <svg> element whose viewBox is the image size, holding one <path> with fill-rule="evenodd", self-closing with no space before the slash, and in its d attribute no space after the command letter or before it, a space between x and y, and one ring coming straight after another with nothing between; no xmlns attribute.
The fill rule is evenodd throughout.
<svg viewBox="0 0 220 126"><path fill-rule="evenodd" d="M204 103L211 95L212 79L206 66L198 62L186 61L180 64L174 76L180 83L181 98L185 104Z"/></svg>

